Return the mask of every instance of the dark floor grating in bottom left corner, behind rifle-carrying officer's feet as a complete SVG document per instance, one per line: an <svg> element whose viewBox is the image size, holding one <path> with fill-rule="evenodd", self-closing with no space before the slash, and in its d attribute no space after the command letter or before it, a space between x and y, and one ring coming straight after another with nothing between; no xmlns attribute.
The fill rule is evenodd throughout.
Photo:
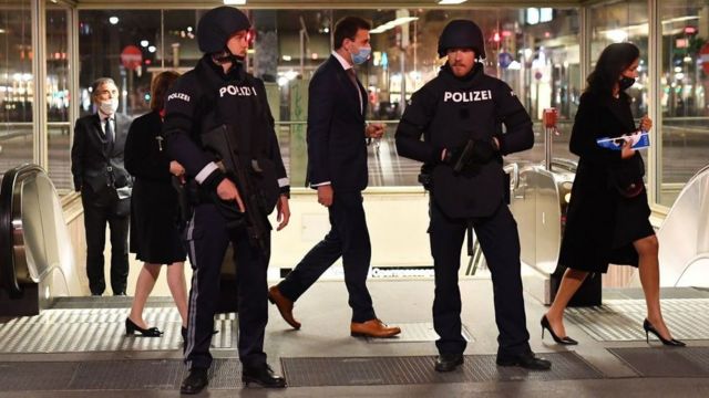
<svg viewBox="0 0 709 398"><path fill-rule="evenodd" d="M185 376L179 359L0 363L3 391L176 390ZM209 389L240 388L240 376L238 359L215 359Z"/></svg>

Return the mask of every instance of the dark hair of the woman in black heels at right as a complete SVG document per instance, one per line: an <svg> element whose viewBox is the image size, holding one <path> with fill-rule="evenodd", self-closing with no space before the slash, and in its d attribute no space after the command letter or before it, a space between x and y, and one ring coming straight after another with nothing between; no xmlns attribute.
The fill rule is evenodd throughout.
<svg viewBox="0 0 709 398"><path fill-rule="evenodd" d="M623 71L640 57L640 50L633 43L613 43L605 48L596 61L596 69L588 75L587 92L610 97L613 87Z"/></svg>

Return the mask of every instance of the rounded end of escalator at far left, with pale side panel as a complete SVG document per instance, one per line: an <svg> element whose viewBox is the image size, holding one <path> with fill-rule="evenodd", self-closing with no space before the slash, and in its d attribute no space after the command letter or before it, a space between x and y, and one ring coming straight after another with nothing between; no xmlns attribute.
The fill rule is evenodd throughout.
<svg viewBox="0 0 709 398"><path fill-rule="evenodd" d="M37 165L0 184L0 316L37 315L54 297L80 295L62 207Z"/></svg>

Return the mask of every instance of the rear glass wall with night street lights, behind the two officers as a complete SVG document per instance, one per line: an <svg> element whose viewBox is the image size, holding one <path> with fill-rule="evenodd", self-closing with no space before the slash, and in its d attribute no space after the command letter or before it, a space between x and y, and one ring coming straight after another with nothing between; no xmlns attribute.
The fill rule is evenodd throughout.
<svg viewBox="0 0 709 398"><path fill-rule="evenodd" d="M535 122L549 106L559 109L563 123L573 118L582 90L578 12L521 11L528 10L248 10L254 27L246 65L266 83L271 113L279 124L279 142L287 147L285 161L294 186L305 180L308 83L318 65L330 56L335 23L345 15L359 15L372 22L372 57L358 67L358 75L369 92L367 118L390 121L387 136L370 146L371 185L418 186L419 165L399 159L393 133L411 95L433 78L443 64L436 53L438 38L452 19L467 18L481 25L487 43L486 73L507 82ZM131 116L144 113L155 73L165 69L184 73L202 56L195 33L203 12L81 10L82 113L92 112L85 87L104 75L116 80L124 93L122 112ZM119 21L106 23L110 17L117 17ZM104 43L109 43L107 48ZM121 57L129 45L138 48L143 57L135 67ZM542 161L541 137L534 149L510 160ZM566 147L558 145L563 150ZM388 177L382 178L380 172Z"/></svg>

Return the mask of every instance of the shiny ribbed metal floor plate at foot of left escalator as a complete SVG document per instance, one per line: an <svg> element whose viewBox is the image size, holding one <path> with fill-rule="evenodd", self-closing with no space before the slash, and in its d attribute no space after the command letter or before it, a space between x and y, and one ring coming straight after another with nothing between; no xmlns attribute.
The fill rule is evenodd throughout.
<svg viewBox="0 0 709 398"><path fill-rule="evenodd" d="M0 353L79 353L116 350L167 350L182 348L182 322L175 307L147 307L143 314L162 337L125 336L126 308L47 310L0 323ZM237 317L222 314L215 320L215 349L236 346Z"/></svg>

